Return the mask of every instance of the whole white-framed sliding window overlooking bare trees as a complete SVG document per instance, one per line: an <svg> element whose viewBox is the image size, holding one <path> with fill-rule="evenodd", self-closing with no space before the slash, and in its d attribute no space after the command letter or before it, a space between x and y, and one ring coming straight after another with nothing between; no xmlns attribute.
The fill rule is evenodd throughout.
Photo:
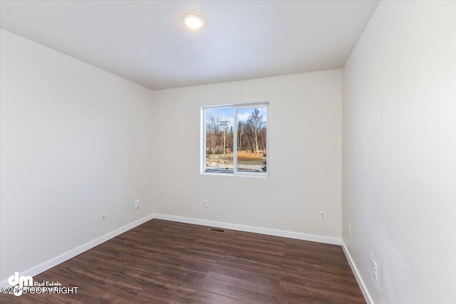
<svg viewBox="0 0 456 304"><path fill-rule="evenodd" d="M267 176L268 103L202 108L202 173Z"/></svg>

